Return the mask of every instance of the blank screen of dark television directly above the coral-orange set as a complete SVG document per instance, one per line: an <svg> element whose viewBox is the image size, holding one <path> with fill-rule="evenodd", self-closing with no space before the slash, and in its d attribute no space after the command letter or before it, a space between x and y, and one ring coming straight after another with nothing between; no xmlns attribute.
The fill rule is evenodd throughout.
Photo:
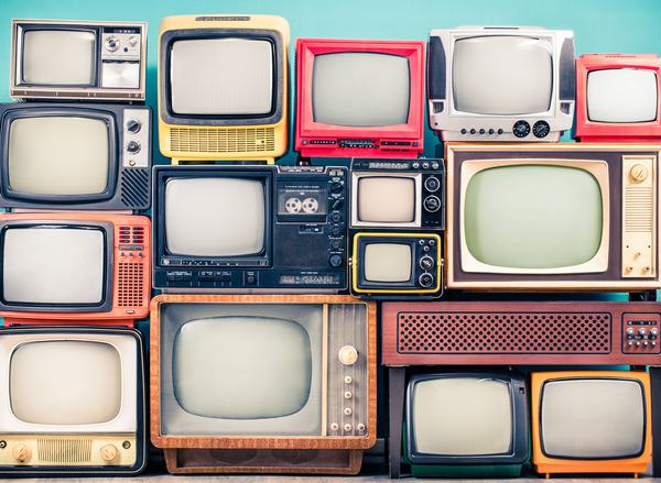
<svg viewBox="0 0 661 483"><path fill-rule="evenodd" d="M108 139L108 127L100 119L14 119L9 128L9 185L14 191L44 196L104 193Z"/></svg>

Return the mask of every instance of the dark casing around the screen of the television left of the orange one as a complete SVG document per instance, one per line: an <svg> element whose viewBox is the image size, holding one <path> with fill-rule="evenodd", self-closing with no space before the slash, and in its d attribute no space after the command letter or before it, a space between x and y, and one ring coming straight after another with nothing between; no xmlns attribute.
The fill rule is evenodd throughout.
<svg viewBox="0 0 661 483"><path fill-rule="evenodd" d="M506 383L510 393L512 410L512 442L510 451L497 454L478 455L451 455L451 454L431 454L419 453L415 448L415 435L413 431L413 393L415 385L424 381L445 380L445 378L490 378ZM405 459L411 464L522 464L529 457L529 436L528 436L528 403L525 394L525 380L523 375L502 372L446 372L433 374L413 374L409 377L405 394Z"/></svg>

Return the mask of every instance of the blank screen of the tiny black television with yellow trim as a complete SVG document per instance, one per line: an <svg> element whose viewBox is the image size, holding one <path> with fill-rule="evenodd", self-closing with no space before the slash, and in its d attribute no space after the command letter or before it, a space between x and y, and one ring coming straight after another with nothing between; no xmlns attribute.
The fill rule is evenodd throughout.
<svg viewBox="0 0 661 483"><path fill-rule="evenodd" d="M411 278L411 245L368 243L365 246L365 278L368 282L408 282Z"/></svg>

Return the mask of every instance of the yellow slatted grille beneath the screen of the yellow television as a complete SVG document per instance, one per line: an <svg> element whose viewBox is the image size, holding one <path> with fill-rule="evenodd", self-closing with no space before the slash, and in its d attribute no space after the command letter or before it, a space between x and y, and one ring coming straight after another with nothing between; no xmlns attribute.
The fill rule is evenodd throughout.
<svg viewBox="0 0 661 483"><path fill-rule="evenodd" d="M180 153L249 153L275 149L273 128L171 128L170 146Z"/></svg>

